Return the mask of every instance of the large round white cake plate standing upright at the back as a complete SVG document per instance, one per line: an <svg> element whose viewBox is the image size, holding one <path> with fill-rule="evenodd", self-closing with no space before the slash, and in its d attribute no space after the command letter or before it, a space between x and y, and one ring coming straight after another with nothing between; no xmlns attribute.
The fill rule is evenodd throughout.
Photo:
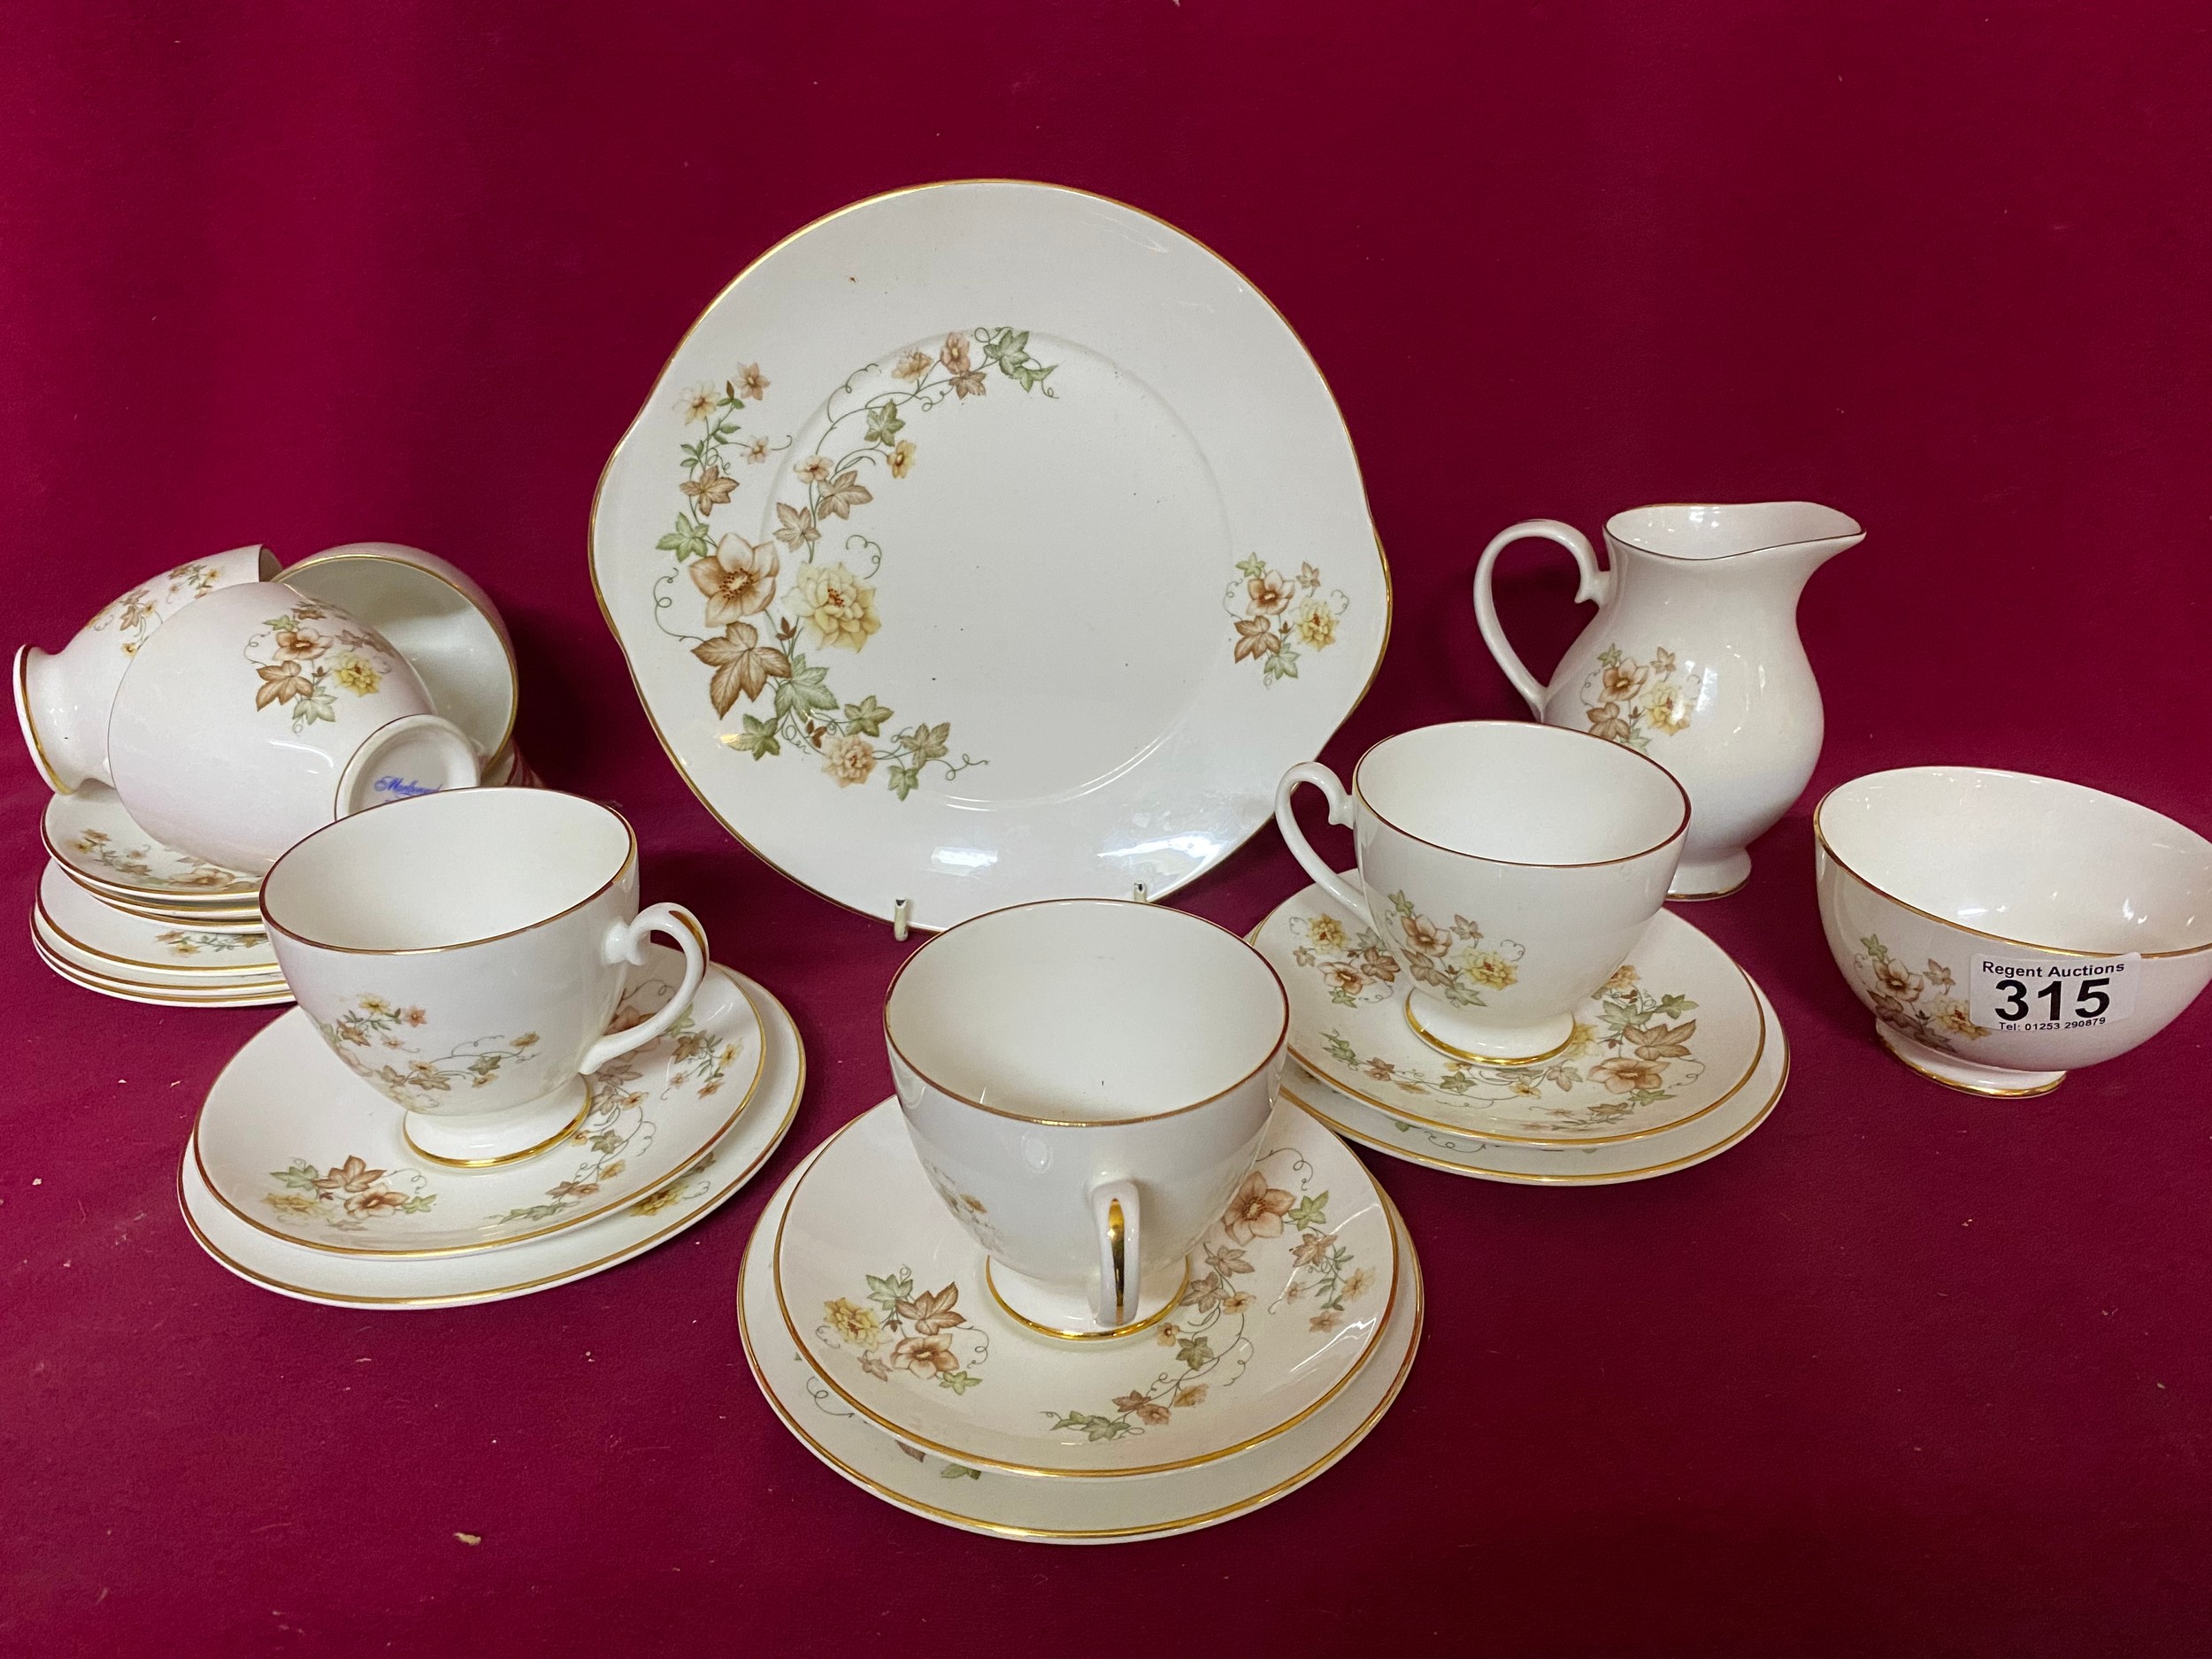
<svg viewBox="0 0 2212 1659"><path fill-rule="evenodd" d="M1274 307L1159 219L1015 181L863 201L748 268L599 480L593 580L732 834L922 929L1181 887L1389 630L1349 436Z"/></svg>

